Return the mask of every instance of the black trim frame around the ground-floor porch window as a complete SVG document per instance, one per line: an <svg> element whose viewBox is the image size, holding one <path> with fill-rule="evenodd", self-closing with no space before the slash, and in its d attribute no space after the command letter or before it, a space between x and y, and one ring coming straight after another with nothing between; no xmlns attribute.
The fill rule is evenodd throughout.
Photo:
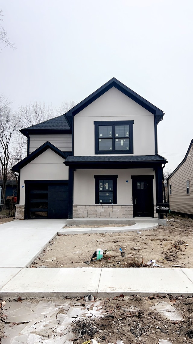
<svg viewBox="0 0 193 344"><path fill-rule="evenodd" d="M96 174L95 179L95 204L117 204L117 178L118 174ZM113 180L113 202L112 203L100 203L99 202L99 180L100 179L112 179Z"/></svg>

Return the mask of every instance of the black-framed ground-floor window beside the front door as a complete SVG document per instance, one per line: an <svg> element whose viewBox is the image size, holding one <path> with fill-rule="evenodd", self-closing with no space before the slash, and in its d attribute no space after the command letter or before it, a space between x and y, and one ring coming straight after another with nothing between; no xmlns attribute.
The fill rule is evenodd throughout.
<svg viewBox="0 0 193 344"><path fill-rule="evenodd" d="M94 175L95 204L117 204L118 175Z"/></svg>

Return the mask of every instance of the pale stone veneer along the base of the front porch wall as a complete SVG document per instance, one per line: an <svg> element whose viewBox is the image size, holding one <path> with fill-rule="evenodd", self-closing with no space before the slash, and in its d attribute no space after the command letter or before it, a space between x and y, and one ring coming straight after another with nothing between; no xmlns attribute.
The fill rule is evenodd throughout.
<svg viewBox="0 0 193 344"><path fill-rule="evenodd" d="M77 217L133 217L133 205L73 205L73 218ZM156 206L154 217L158 217Z"/></svg>

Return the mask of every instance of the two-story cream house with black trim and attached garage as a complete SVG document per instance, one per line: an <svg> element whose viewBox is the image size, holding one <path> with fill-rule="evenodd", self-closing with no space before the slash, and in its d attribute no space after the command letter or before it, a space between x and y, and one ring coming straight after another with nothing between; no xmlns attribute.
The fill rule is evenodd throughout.
<svg viewBox="0 0 193 344"><path fill-rule="evenodd" d="M13 167L16 218L158 216L163 115L112 78L64 116L21 130L28 155Z"/></svg>

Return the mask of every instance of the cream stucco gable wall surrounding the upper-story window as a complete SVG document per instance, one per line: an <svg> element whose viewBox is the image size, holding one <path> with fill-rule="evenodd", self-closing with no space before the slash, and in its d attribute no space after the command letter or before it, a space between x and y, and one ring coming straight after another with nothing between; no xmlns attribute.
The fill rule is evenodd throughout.
<svg viewBox="0 0 193 344"><path fill-rule="evenodd" d="M134 120L134 155L155 154L154 115L115 87L80 111L73 120L74 155L95 155L93 122L116 120Z"/></svg>

